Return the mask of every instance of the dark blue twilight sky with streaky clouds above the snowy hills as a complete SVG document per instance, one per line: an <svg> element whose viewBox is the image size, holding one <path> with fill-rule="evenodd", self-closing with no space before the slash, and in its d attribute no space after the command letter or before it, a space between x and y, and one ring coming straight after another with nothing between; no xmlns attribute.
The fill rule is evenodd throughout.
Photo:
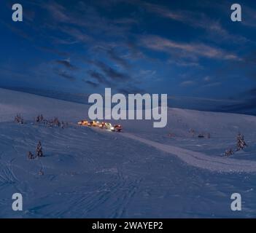
<svg viewBox="0 0 256 233"><path fill-rule="evenodd" d="M12 22L15 3L23 22ZM256 2L236 2L236 23L233 3L1 0L0 87L86 94L112 87L168 93L170 106L176 98L254 114Z"/></svg>

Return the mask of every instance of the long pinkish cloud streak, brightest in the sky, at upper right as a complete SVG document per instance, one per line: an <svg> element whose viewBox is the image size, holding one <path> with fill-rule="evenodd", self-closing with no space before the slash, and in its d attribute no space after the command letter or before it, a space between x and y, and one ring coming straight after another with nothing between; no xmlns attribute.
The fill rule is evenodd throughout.
<svg viewBox="0 0 256 233"><path fill-rule="evenodd" d="M174 42L170 39L155 35L141 36L140 43L143 47L166 52L170 55L173 55L175 52L182 52L181 56L183 57L193 56L195 58L204 57L219 60L240 60L238 56L233 53L225 52L224 50L211 47L207 44Z"/></svg>

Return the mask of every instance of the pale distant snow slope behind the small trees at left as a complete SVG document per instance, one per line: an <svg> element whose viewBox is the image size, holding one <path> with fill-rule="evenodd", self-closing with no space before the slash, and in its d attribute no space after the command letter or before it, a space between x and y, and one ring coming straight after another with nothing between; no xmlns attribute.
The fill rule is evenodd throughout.
<svg viewBox="0 0 256 233"><path fill-rule="evenodd" d="M26 119L44 114L46 117L58 116L66 121L77 121L85 118L87 112L85 104L0 88L0 122L12 121L15 114L22 114Z"/></svg>

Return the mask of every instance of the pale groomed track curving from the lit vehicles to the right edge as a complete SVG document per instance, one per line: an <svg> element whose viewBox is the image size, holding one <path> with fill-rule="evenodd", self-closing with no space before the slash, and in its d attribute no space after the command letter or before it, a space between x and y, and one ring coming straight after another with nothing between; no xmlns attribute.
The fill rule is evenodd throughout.
<svg viewBox="0 0 256 233"><path fill-rule="evenodd" d="M214 172L224 173L254 173L256 172L256 162L250 160L230 159L225 157L212 157L201 152L182 149L177 146L170 146L163 143L157 143L148 139L140 138L131 133L121 133L126 138L139 141L141 143L152 146L160 151L174 154L188 165L199 167Z"/></svg>

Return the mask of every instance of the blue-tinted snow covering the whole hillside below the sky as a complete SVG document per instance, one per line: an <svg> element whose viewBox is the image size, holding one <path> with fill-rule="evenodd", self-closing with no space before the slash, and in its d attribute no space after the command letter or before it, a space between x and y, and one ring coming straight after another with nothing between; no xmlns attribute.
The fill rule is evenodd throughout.
<svg viewBox="0 0 256 233"><path fill-rule="evenodd" d="M255 116L169 108L163 129L127 120L124 133L112 133L78 127L87 112L82 104L0 89L1 218L255 216ZM15 124L16 114L26 124ZM71 124L36 125L37 114ZM238 132L249 147L224 157ZM45 157L28 160L38 141ZM22 212L12 211L15 192L23 194ZM242 211L230 210L234 192Z"/></svg>

